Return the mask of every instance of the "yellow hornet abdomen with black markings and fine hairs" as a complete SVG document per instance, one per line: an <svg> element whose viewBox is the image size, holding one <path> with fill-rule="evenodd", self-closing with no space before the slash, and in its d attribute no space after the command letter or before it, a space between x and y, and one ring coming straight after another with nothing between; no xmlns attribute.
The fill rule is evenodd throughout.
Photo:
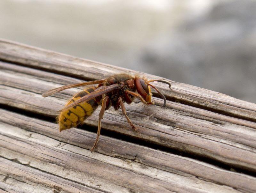
<svg viewBox="0 0 256 193"><path fill-rule="evenodd" d="M95 89L95 87L91 87L80 93L77 93L71 100L68 101L65 106L73 103L74 101L89 93L92 93ZM72 107L67 111L61 112L58 117L60 131L69 129L71 127L76 127L78 124L83 123L84 120L89 117L97 107L97 101L95 99L91 99L87 102L80 103L79 105Z"/></svg>

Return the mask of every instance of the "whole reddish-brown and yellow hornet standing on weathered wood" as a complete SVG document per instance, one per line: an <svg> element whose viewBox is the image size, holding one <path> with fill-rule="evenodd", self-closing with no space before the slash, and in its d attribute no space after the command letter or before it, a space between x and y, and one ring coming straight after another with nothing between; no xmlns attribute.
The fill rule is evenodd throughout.
<svg viewBox="0 0 256 193"><path fill-rule="evenodd" d="M123 116L126 117L128 123L134 131L137 129L126 115L124 102L130 104L134 98L139 98L145 106L154 104L154 102L151 101L152 87L164 99L164 104L162 107L165 106L166 98L164 95L154 85L150 84L154 81L166 83L169 85L169 87L171 87L171 84L164 80L147 80L145 77L140 78L139 75L131 76L123 73L114 74L105 79L61 86L43 93L42 96L47 97L69 88L98 84L97 86L86 88L82 92L77 93L71 100L68 101L64 108L59 110L60 115L57 117L60 125L60 131L63 131L76 127L78 124L82 124L84 120L92 115L95 109L101 105L97 137L91 149L91 152L93 152L100 137L101 119L103 119L105 110L109 109L111 106L113 106L115 110L121 107Z"/></svg>

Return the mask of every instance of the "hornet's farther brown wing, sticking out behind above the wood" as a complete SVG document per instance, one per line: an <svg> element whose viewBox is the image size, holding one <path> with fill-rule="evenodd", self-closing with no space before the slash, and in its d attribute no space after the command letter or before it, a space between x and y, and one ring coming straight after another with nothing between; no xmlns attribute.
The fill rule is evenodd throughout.
<svg viewBox="0 0 256 193"><path fill-rule="evenodd" d="M59 88L54 88L52 90L46 91L45 93L42 94L42 97L48 97L54 93L59 93L60 91L66 90L68 88L75 88L79 86L85 86L85 85L93 85L93 84L100 84L100 83L105 83L107 80L106 79L101 79L101 80L93 80L89 82L81 82L73 85L66 85L66 86L61 86Z"/></svg>

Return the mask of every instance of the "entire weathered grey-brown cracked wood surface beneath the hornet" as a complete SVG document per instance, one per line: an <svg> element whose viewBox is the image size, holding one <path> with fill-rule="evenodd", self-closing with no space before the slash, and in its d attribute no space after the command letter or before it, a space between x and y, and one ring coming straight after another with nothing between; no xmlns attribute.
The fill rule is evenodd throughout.
<svg viewBox="0 0 256 193"><path fill-rule="evenodd" d="M94 153L100 109L59 133L56 111L80 89L41 94L120 71L136 73L0 40L0 191L256 191L256 105L224 94L154 83L166 107L156 93L155 106L126 104L138 132L121 110L109 109L102 120L109 137L100 136Z"/></svg>

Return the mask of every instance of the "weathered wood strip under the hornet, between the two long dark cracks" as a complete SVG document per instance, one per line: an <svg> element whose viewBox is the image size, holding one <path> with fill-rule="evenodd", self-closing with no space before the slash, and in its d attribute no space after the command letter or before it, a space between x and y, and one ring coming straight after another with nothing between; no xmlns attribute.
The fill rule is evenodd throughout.
<svg viewBox="0 0 256 193"><path fill-rule="evenodd" d="M63 91L54 97L42 98L39 93L58 86L47 82L47 78L53 74L39 70L29 73L28 68L16 66L15 70L15 66L0 63L0 82L4 85L0 87L0 103L45 116L56 116L56 111L66 103L64 99L70 98L72 92ZM65 77L56 75L55 81L65 81ZM148 108L142 108L139 103L126 106L139 132L130 130L126 120L121 117L121 111L113 109L106 112L102 128L181 152L205 156L230 167L256 171L256 123L172 101L167 101L166 108L159 108L162 101L158 98L154 100L156 106ZM97 113L86 123L97 126Z"/></svg>

